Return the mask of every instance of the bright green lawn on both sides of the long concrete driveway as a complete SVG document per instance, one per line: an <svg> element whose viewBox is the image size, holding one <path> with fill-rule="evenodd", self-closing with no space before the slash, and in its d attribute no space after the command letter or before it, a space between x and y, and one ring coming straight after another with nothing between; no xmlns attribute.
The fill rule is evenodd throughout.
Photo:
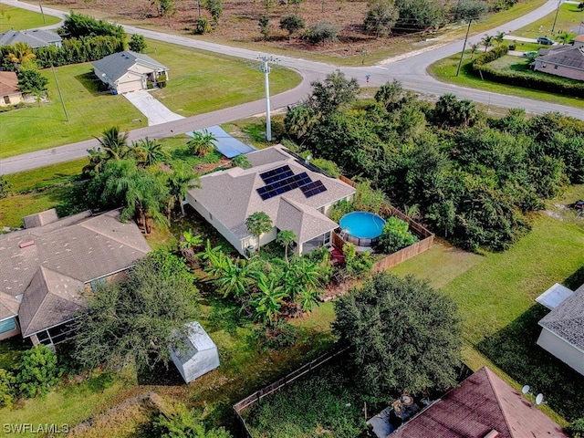
<svg viewBox="0 0 584 438"><path fill-rule="evenodd" d="M178 114L203 114L264 96L262 73L246 61L161 42L148 44L147 53L170 68L168 86L152 94ZM50 70L44 70L49 79L49 103L0 113L0 158L99 137L113 125L120 130L146 126L146 118L128 100L98 92L99 80L90 63L55 71L69 120L66 121L55 78ZM270 75L272 94L291 89L299 82L299 75L285 68L274 69Z"/></svg>

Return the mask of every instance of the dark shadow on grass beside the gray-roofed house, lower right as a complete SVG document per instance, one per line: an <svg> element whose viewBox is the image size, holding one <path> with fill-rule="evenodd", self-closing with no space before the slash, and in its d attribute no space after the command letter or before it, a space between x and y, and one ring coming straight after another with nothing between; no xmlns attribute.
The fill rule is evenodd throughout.
<svg viewBox="0 0 584 438"><path fill-rule="evenodd" d="M537 346L539 319L547 314L539 304L529 308L506 328L483 340L477 348L497 367L534 394L544 394L549 406L568 421L584 412L584 376Z"/></svg>

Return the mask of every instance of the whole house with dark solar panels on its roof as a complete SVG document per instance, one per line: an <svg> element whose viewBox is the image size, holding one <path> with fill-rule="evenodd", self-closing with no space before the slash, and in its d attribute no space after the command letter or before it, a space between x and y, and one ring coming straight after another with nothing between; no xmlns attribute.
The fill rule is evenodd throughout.
<svg viewBox="0 0 584 438"><path fill-rule="evenodd" d="M355 189L318 172L281 145L245 156L250 169L235 167L204 175L201 187L187 193L187 202L242 255L258 245L257 236L245 226L245 219L256 212L266 213L274 224L261 236L261 245L282 230L297 235L297 254L331 245L331 232L339 225L328 218L330 207L350 200Z"/></svg>

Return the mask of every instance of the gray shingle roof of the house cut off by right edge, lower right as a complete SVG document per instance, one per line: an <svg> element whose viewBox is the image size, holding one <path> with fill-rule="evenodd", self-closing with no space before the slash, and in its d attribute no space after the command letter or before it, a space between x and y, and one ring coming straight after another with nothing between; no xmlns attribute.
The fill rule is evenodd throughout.
<svg viewBox="0 0 584 438"><path fill-rule="evenodd" d="M541 318L539 325L584 351L584 285Z"/></svg>

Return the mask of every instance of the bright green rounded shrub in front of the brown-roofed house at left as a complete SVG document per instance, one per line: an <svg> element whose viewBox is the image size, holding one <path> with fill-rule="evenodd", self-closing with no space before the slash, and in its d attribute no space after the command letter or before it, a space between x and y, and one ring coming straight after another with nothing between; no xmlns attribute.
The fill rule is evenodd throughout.
<svg viewBox="0 0 584 438"><path fill-rule="evenodd" d="M37 345L22 354L22 365L16 376L17 391L24 397L42 397L57 385L62 373L55 352Z"/></svg>

